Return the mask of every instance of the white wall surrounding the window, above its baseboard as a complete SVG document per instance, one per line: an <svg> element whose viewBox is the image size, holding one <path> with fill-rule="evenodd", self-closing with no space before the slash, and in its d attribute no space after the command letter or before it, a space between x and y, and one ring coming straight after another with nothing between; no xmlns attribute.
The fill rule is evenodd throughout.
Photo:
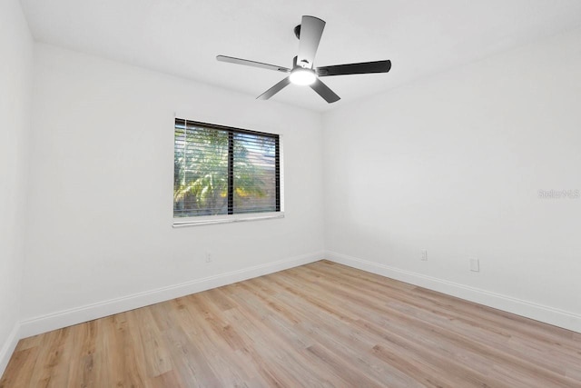
<svg viewBox="0 0 581 388"><path fill-rule="evenodd" d="M322 257L320 114L50 45L35 55L25 335ZM174 112L282 134L285 218L173 229Z"/></svg>

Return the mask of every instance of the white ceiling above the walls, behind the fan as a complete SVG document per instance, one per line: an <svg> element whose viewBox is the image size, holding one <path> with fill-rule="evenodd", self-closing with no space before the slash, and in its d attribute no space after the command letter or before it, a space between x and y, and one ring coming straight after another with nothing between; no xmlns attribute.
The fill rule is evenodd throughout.
<svg viewBox="0 0 581 388"><path fill-rule="evenodd" d="M581 26L580 0L21 0L34 38L130 65L261 95L291 67L301 15L327 22L315 65L390 59L389 74L325 78L341 100L290 85L272 100L325 111ZM531 64L534 65L534 64ZM257 101L256 104L269 104Z"/></svg>

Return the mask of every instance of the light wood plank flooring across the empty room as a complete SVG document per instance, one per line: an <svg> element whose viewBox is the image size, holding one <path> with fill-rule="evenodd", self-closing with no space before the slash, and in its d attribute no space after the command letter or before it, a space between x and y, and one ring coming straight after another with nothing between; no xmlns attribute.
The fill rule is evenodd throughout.
<svg viewBox="0 0 581 388"><path fill-rule="evenodd" d="M21 340L49 386L581 387L581 334L321 261Z"/></svg>

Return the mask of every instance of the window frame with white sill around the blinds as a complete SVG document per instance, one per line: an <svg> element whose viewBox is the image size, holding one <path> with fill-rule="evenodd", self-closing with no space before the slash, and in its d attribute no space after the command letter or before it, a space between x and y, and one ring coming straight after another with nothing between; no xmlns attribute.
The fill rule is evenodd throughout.
<svg viewBox="0 0 581 388"><path fill-rule="evenodd" d="M272 134L261 131L254 131L250 129L238 128L234 126L222 125L222 124L212 124L205 123L197 120L183 119L181 117L174 117L173 120L173 157L175 158L175 130L178 123L181 123L186 128L188 124L193 126L200 126L203 128L214 129L217 131L225 131L228 133L228 214L216 214L216 215L198 215L189 217L175 217L173 214L172 206L172 226L182 227L182 226L195 226L202 224L227 224L227 223L238 223L246 221L259 221L259 220L269 220L284 218L284 195L283 195L283 168L282 168L282 134ZM233 202L234 202L234 153L233 153L233 138L234 134L255 134L265 137L270 137L275 141L275 174L278 172L278 182L275 180L275 211L274 212L258 212L258 213L242 213L233 214ZM175 159L174 159L175 160ZM276 178L275 178L276 179ZM173 189L174 190L174 189Z"/></svg>

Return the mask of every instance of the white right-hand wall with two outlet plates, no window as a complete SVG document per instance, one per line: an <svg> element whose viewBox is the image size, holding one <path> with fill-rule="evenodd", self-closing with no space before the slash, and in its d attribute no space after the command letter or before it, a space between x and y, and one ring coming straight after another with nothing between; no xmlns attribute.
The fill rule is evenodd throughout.
<svg viewBox="0 0 581 388"><path fill-rule="evenodd" d="M577 30L326 114L330 258L580 331L581 199L537 197L581 190L579 47Z"/></svg>

